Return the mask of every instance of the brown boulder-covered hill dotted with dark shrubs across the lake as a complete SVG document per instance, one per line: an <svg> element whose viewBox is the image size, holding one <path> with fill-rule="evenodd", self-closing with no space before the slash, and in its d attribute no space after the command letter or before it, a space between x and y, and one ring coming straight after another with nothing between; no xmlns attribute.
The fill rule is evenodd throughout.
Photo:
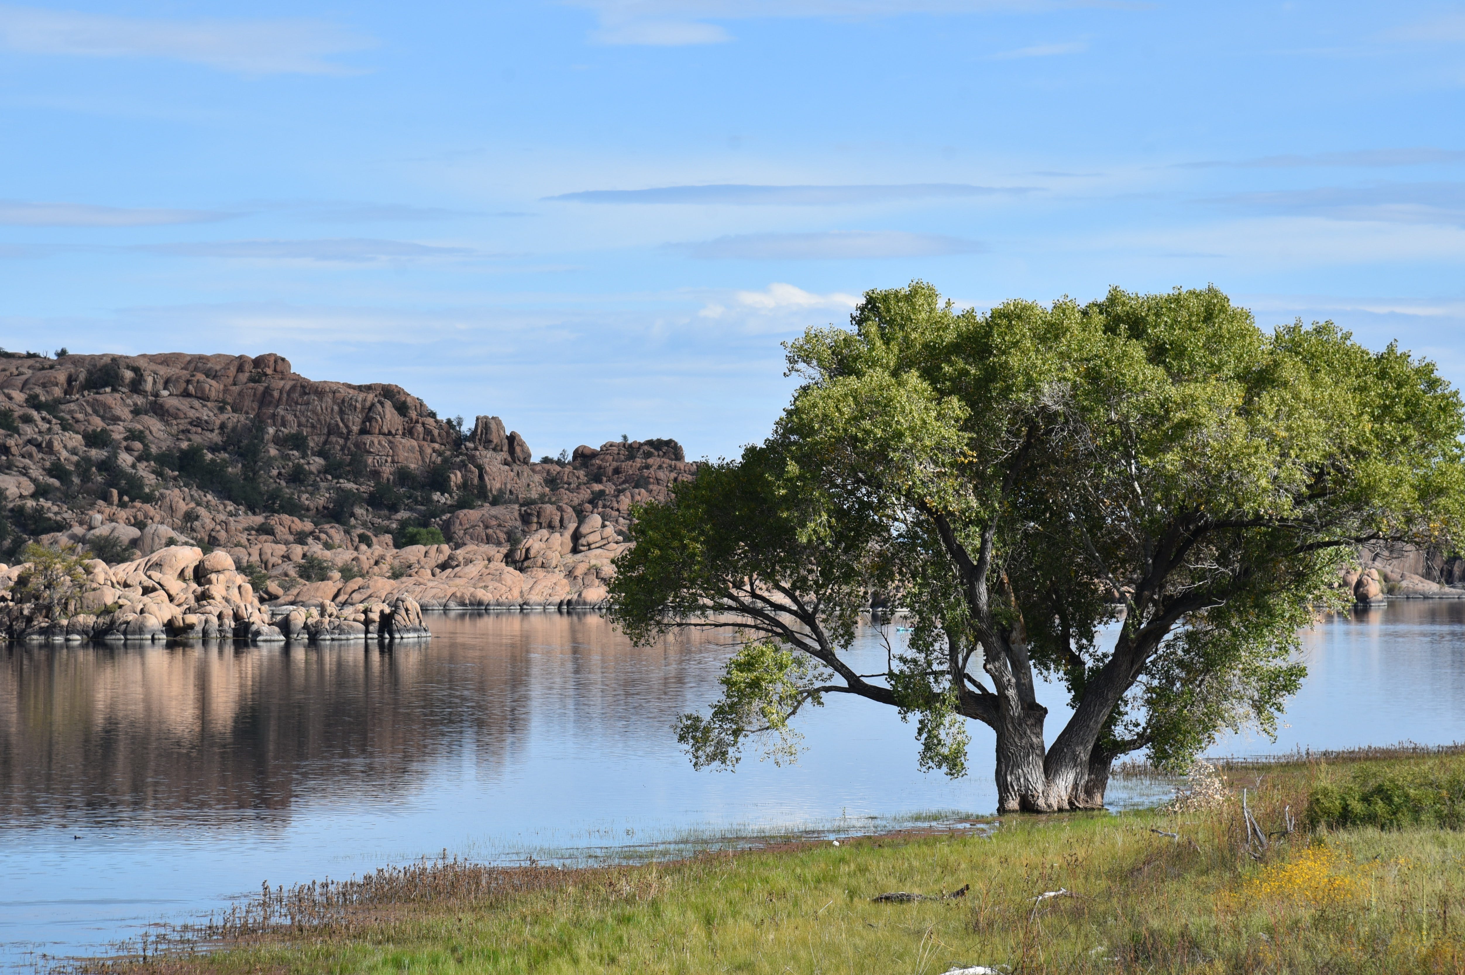
<svg viewBox="0 0 1465 975"><path fill-rule="evenodd" d="M275 354L0 359L0 555L227 553L261 597L335 608L595 606L631 507L690 477L675 441L533 460L497 416ZM3 569L0 569L3 571Z"/></svg>

